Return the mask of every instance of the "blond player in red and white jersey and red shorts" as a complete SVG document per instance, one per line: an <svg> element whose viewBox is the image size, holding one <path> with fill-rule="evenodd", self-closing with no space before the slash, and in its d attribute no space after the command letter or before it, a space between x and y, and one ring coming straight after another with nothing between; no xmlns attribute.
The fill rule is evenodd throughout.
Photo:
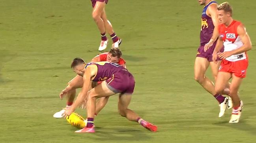
<svg viewBox="0 0 256 143"><path fill-rule="evenodd" d="M230 97L233 100L233 110L229 123L238 123L241 116L243 101L237 92L246 76L248 58L246 52L252 49L250 37L241 22L233 20L232 7L228 2L218 6L219 40L213 52L213 61L222 59L216 80L215 91L222 94L226 83L232 78ZM224 45L224 52L218 53Z"/></svg>

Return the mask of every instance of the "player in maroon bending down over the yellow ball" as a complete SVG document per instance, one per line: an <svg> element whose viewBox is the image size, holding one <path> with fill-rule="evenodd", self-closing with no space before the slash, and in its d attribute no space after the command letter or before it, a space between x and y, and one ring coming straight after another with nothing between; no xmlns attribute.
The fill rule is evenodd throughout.
<svg viewBox="0 0 256 143"><path fill-rule="evenodd" d="M83 76L84 85L75 103L65 110L65 117L69 116L84 100L87 100L87 125L85 128L76 132L95 132L93 120L96 99L112 96L117 93L120 93L118 111L121 116L126 117L130 121L137 121L140 125L152 132L157 131L157 126L145 121L135 112L128 109L135 87L135 80L133 75L123 66L118 63L109 62L86 64L82 59L75 58L71 63L71 67L78 75ZM101 81L102 79L107 80L104 80L101 84L89 91L91 81Z"/></svg>

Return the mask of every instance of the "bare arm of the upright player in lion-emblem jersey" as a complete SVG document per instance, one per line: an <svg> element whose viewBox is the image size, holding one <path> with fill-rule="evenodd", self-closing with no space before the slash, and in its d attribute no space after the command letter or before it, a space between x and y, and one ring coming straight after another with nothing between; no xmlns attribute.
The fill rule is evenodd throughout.
<svg viewBox="0 0 256 143"><path fill-rule="evenodd" d="M218 14L217 14L217 6L218 6L217 4L211 4L209 5L206 11L207 15L211 16L211 19L213 20L214 29L213 29L213 36L211 37L211 40L204 46L204 51L207 51L219 36L219 31L218 31L219 20L218 20Z"/></svg>

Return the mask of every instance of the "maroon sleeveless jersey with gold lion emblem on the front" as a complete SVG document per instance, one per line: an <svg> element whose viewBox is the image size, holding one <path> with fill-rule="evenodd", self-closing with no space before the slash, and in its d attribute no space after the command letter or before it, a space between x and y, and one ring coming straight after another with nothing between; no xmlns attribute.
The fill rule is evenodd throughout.
<svg viewBox="0 0 256 143"><path fill-rule="evenodd" d="M201 46L208 43L211 40L211 36L213 35L213 29L214 29L213 20L211 19L211 17L209 17L206 14L207 8L211 4L217 4L217 2L215 2L214 0L209 2L209 4L207 4L204 7L203 12L202 12L201 32L200 32L200 45Z"/></svg>

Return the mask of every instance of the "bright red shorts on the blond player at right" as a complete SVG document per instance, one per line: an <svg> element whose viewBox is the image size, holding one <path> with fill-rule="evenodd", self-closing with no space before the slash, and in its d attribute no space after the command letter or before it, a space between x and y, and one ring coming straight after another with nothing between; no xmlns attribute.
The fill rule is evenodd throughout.
<svg viewBox="0 0 256 143"><path fill-rule="evenodd" d="M246 76L246 69L248 67L248 59L245 60L239 60L235 62L230 62L228 60L222 60L219 72L229 72L234 73L235 76L239 78L245 78Z"/></svg>

